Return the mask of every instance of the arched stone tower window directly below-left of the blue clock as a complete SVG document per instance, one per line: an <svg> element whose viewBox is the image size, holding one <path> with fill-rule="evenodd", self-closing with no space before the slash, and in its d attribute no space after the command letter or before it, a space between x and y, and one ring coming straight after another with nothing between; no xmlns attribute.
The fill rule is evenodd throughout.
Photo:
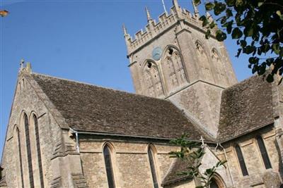
<svg viewBox="0 0 283 188"><path fill-rule="evenodd" d="M149 96L162 96L163 86L158 67L154 62L147 61L144 65L145 86L144 92Z"/></svg>

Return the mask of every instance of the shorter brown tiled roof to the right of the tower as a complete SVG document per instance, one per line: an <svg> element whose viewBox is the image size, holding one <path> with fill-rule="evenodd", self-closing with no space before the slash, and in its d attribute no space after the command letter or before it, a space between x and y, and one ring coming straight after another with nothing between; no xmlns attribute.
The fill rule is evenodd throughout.
<svg viewBox="0 0 283 188"><path fill-rule="evenodd" d="M238 137L273 123L272 84L253 76L224 89L218 139Z"/></svg>

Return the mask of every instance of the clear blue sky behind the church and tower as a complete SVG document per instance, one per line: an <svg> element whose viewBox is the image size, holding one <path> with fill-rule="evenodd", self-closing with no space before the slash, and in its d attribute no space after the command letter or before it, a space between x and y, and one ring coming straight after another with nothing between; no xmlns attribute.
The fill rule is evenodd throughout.
<svg viewBox="0 0 283 188"><path fill-rule="evenodd" d="M164 0L167 10L171 0ZM192 11L191 0L179 0ZM147 23L144 7L158 20L161 0L0 0L0 156L20 61L33 72L134 92L122 32ZM236 41L225 42L239 81L250 77L247 56L236 58Z"/></svg>

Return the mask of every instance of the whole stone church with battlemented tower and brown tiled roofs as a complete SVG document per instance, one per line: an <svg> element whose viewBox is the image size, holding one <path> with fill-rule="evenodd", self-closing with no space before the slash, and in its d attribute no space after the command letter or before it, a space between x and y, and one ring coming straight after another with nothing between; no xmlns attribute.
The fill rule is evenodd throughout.
<svg viewBox="0 0 283 188"><path fill-rule="evenodd" d="M200 170L218 161L211 187L280 187L283 86L238 82L222 42L204 39L194 7L173 1L132 38L137 94L21 68L1 158L0 187L196 187L169 158L171 139L202 142ZM201 139L201 141L200 141Z"/></svg>

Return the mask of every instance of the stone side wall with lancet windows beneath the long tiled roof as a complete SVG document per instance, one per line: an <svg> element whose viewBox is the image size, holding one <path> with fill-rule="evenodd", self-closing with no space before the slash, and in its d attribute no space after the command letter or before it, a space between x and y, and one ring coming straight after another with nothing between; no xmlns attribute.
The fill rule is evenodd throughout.
<svg viewBox="0 0 283 188"><path fill-rule="evenodd" d="M112 149L112 168L116 187L153 187L147 153L149 142L89 137L87 139L81 137L79 142L83 174L89 187L108 187L103 158L105 143L110 144ZM177 148L158 143L153 146L156 151L154 153L156 176L158 184L161 184L173 160L169 158L168 152Z"/></svg>

